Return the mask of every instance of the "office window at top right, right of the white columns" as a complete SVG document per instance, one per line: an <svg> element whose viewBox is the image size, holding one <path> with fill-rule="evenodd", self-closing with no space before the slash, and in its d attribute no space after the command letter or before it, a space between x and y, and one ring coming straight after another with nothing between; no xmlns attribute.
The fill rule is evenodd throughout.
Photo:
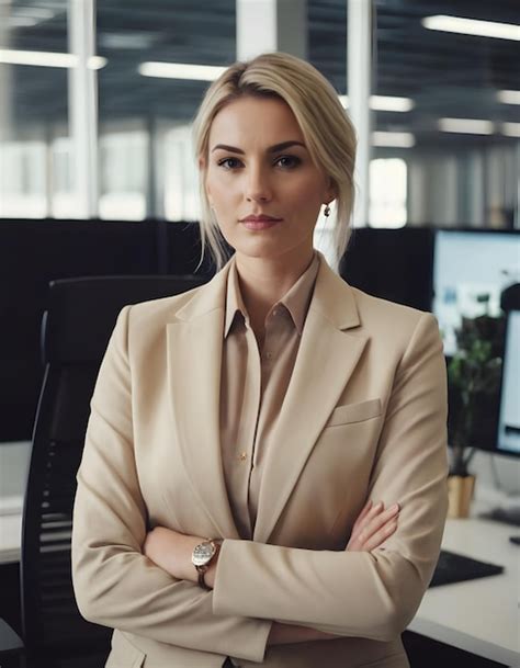
<svg viewBox="0 0 520 668"><path fill-rule="evenodd" d="M518 225L518 42L490 36L497 23L515 36L518 2L375 9L372 157L406 160L408 224ZM461 16L483 35L465 34Z"/></svg>

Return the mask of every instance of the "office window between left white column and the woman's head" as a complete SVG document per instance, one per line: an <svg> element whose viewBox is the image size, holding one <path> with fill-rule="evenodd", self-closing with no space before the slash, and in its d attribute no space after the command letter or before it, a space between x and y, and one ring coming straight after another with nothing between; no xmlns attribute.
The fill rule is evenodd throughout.
<svg viewBox="0 0 520 668"><path fill-rule="evenodd" d="M229 65L235 31L235 0L98 1L102 217L197 217L190 125L211 81L182 78L182 66Z"/></svg>

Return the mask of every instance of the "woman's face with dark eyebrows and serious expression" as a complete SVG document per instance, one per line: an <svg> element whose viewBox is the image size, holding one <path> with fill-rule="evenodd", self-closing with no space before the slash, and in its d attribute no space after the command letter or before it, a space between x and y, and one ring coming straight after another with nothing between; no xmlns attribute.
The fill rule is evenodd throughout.
<svg viewBox="0 0 520 668"><path fill-rule="evenodd" d="M210 203L237 258L294 265L310 259L316 219L334 189L312 161L285 102L246 97L222 109L201 167Z"/></svg>

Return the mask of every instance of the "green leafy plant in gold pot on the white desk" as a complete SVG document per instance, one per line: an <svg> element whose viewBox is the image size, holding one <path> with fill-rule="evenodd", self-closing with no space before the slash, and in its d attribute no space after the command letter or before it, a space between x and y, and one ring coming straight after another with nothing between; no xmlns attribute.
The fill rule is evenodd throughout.
<svg viewBox="0 0 520 668"><path fill-rule="evenodd" d="M462 318L457 350L448 365L451 464L449 517L467 517L475 476L468 469L475 446L496 438L505 318Z"/></svg>

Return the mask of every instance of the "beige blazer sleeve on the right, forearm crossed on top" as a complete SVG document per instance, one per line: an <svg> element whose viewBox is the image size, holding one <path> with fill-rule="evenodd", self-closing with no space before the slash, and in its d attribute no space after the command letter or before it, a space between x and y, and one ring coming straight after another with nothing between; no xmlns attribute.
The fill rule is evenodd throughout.
<svg viewBox="0 0 520 668"><path fill-rule="evenodd" d="M400 503L397 531L372 553L226 540L214 611L377 641L400 634L440 552L448 509L445 424L442 342L436 319L423 314L395 374L368 490L374 501Z"/></svg>

